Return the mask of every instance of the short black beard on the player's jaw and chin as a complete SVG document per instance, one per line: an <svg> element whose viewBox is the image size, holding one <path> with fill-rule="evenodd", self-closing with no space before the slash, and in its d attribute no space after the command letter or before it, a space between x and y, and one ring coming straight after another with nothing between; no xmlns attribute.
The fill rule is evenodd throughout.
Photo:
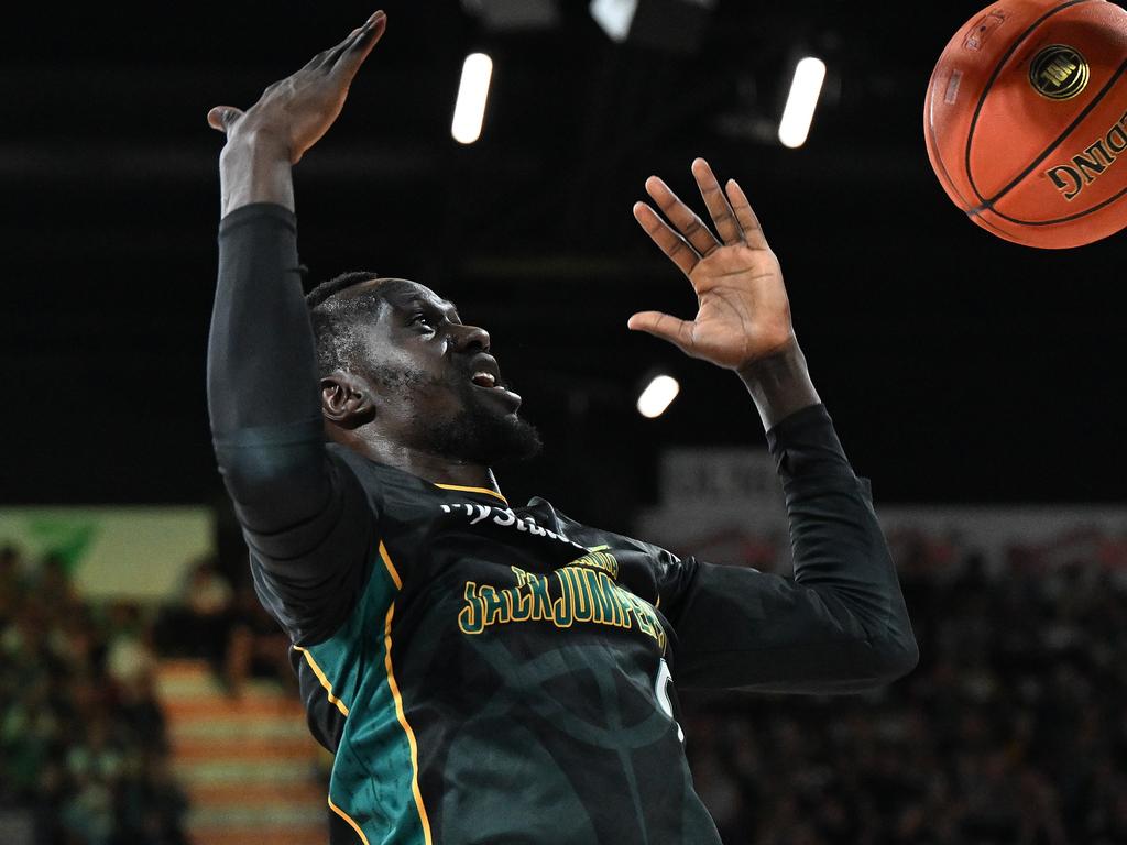
<svg viewBox="0 0 1127 845"><path fill-rule="evenodd" d="M376 380L382 389L412 401L428 389L452 389L459 397L458 412L436 419L427 415L416 417L418 447L453 461L492 466L507 461L522 461L540 454L543 443L535 426L516 413L504 413L491 401L476 394L478 388L469 380L451 384L409 368L381 368Z"/></svg>

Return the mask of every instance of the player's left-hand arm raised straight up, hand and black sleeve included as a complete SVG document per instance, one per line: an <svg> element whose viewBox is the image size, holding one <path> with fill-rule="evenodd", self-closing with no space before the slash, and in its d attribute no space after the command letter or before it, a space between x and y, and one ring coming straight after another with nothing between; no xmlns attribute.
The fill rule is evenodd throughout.
<svg viewBox="0 0 1127 845"><path fill-rule="evenodd" d="M325 447L291 168L340 114L384 25L376 12L250 108L216 106L207 115L227 135L207 348L212 435L264 570L260 595L299 642L327 637L343 621L365 575L373 515L355 477Z"/></svg>

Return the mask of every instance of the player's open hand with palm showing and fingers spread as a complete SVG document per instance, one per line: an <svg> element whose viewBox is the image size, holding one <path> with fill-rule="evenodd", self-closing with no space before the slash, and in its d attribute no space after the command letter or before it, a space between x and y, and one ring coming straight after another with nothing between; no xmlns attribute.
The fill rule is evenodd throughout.
<svg viewBox="0 0 1127 845"><path fill-rule="evenodd" d="M736 180L729 179L721 190L704 159L693 161L692 170L716 234L656 176L646 180L646 192L668 222L647 203L636 203L633 214L689 277L696 292L696 318L642 311L628 324L694 358L740 371L793 346L790 302L779 260Z"/></svg>

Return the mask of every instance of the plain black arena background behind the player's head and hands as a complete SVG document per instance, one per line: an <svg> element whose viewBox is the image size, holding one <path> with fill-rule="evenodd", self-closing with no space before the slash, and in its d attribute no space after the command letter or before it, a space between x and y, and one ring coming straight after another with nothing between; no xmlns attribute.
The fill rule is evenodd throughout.
<svg viewBox="0 0 1127 845"><path fill-rule="evenodd" d="M689 53L614 44L586 2L561 6L557 28L505 34L453 2L387 0L387 35L296 170L312 281L407 276L490 330L548 444L500 471L511 499L538 492L612 523L656 495L663 446L763 443L730 374L625 330L636 310L694 313L630 208L650 174L701 207L698 154L749 194L878 502L1124 498L1124 235L1065 251L1004 242L928 162L928 79L979 0L719 0ZM204 116L250 105L373 8L52 6L10 23L0 500L220 496L204 352L222 137ZM773 131L804 46L829 77L792 151ZM462 148L450 117L477 48L494 86L481 140ZM642 420L633 401L655 367L683 392Z"/></svg>

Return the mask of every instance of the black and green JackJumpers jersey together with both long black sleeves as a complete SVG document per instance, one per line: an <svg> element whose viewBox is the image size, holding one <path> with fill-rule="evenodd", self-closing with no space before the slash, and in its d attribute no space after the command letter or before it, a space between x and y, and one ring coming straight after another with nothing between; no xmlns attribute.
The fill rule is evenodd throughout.
<svg viewBox="0 0 1127 845"><path fill-rule="evenodd" d="M208 400L258 594L335 753L332 843L718 843L675 685L848 692L914 665L823 407L769 433L793 579L431 483L325 444L294 232L274 205L224 219Z"/></svg>

